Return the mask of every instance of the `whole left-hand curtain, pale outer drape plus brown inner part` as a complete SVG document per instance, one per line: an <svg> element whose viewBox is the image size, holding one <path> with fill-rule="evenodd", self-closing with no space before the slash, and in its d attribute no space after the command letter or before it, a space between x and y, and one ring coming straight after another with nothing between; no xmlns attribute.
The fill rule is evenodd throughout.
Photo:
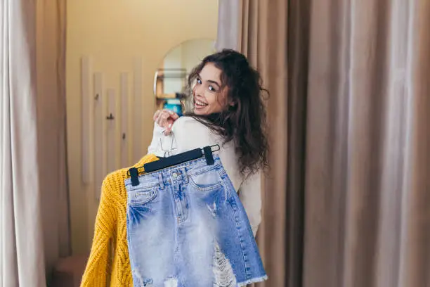
<svg viewBox="0 0 430 287"><path fill-rule="evenodd" d="M0 1L0 286L68 255L65 1Z"/></svg>

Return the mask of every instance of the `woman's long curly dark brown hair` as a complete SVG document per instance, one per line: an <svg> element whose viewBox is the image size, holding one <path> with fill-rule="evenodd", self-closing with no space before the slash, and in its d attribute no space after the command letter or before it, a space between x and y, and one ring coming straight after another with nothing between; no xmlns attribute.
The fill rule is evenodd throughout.
<svg viewBox="0 0 430 287"><path fill-rule="evenodd" d="M221 89L227 88L225 109L211 115L195 115L195 120L223 137L224 143L233 141L239 158L240 174L248 177L268 167L268 139L266 136L266 107L260 73L249 65L247 58L237 51L224 49L205 57L188 77L188 91L204 65L212 63L221 70ZM193 93L190 93L192 95Z"/></svg>

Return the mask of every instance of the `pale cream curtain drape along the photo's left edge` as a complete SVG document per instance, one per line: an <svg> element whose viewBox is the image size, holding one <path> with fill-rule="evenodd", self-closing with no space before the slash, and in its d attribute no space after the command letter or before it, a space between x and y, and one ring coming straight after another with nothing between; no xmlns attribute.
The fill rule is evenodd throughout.
<svg viewBox="0 0 430 287"><path fill-rule="evenodd" d="M37 164L36 6L1 2L1 286L46 286Z"/></svg>

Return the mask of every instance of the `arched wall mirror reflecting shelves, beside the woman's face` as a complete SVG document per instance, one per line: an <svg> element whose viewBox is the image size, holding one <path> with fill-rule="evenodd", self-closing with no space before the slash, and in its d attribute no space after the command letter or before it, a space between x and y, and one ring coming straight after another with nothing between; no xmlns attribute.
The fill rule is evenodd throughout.
<svg viewBox="0 0 430 287"><path fill-rule="evenodd" d="M165 108L182 115L181 101L185 98L188 75L205 56L214 52L211 39L192 39L171 49L155 72L157 109Z"/></svg>

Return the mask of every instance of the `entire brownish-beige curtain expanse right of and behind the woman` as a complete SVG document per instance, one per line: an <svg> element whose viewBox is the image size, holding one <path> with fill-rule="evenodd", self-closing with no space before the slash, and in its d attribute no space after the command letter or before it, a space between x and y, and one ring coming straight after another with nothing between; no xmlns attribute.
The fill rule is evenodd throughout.
<svg viewBox="0 0 430 287"><path fill-rule="evenodd" d="M430 286L430 1L220 5L271 91L260 286Z"/></svg>

